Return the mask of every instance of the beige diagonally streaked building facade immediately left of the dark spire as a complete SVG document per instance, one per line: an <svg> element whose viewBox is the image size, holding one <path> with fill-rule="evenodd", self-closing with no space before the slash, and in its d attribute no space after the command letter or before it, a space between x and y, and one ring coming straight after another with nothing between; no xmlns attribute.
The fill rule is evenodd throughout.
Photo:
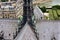
<svg viewBox="0 0 60 40"><path fill-rule="evenodd" d="M18 0L16 4L16 17L19 18L23 15L23 0Z"/></svg>

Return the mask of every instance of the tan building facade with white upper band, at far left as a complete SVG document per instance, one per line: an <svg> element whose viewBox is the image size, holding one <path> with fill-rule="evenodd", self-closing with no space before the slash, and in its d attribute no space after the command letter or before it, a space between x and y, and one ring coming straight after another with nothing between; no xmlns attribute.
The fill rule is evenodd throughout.
<svg viewBox="0 0 60 40"><path fill-rule="evenodd" d="M0 1L0 18L16 18L16 0Z"/></svg>

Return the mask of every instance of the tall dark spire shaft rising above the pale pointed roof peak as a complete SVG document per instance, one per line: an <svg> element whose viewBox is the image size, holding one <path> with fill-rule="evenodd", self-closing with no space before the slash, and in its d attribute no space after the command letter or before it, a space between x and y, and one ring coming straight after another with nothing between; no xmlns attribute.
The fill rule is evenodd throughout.
<svg viewBox="0 0 60 40"><path fill-rule="evenodd" d="M32 25L33 5L32 0L23 0L23 25L28 22Z"/></svg>

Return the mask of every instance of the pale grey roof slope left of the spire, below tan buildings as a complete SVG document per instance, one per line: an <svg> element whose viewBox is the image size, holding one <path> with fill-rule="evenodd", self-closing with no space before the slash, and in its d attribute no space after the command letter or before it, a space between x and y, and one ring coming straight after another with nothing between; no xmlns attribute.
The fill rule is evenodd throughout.
<svg viewBox="0 0 60 40"><path fill-rule="evenodd" d="M13 40L16 30L18 30L18 19L0 19L0 32L3 31L5 39Z"/></svg>

